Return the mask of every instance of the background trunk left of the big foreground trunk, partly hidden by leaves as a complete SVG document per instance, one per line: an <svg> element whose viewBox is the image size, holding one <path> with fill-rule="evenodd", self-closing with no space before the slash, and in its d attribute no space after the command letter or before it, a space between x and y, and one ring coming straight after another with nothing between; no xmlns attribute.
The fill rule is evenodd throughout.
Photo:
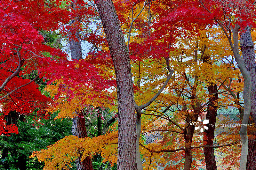
<svg viewBox="0 0 256 170"><path fill-rule="evenodd" d="M73 10L78 10L80 7L74 2ZM70 26L76 26L76 24L80 23L79 17L72 19L69 23ZM81 48L81 41L79 36L79 30L77 29L75 34L76 40L71 39L69 41L70 51L71 51L71 59L72 60L80 60L83 59L82 57L82 48ZM76 113L77 116L73 118L72 124L72 135L77 136L79 138L88 137L86 132L86 125L85 120L81 116L81 113ZM76 169L77 170L93 170L92 168L92 159L88 156L85 157L83 161L81 161L81 157L76 159Z"/></svg>

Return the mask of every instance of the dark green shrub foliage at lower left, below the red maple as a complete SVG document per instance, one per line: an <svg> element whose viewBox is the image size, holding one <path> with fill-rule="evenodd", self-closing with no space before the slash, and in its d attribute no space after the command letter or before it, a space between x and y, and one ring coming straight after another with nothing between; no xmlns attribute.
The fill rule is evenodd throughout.
<svg viewBox="0 0 256 170"><path fill-rule="evenodd" d="M54 120L57 113L50 119L38 120L27 117L26 121L18 120L17 126L19 134L12 134L9 137L0 136L0 150L8 149L8 158L0 159L0 169L8 164L11 169L19 169L19 159L26 160L28 169L43 169L44 163L37 162L37 159L29 158L33 151L40 151L46 146L54 144L56 141L71 135L72 121L69 119ZM29 168L30 167L30 168ZM72 170L75 170L76 166Z"/></svg>

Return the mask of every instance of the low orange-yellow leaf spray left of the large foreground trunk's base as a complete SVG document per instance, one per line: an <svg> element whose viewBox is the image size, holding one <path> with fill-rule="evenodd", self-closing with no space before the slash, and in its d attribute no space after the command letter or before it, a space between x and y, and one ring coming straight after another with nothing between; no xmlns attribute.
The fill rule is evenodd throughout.
<svg viewBox="0 0 256 170"><path fill-rule="evenodd" d="M93 138L66 136L47 149L33 152L30 157L37 157L39 162L44 161L44 170L69 169L70 163L77 157L83 160L96 153L101 153L103 162L109 161L113 165L117 161L117 135L118 131Z"/></svg>

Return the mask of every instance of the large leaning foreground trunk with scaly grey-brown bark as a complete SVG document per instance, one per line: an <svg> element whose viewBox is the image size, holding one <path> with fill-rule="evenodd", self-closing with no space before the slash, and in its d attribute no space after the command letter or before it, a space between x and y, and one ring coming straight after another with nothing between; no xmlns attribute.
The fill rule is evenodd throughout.
<svg viewBox="0 0 256 170"><path fill-rule="evenodd" d="M96 1L112 61L118 100L118 170L135 170L135 108L131 64L119 19L111 0Z"/></svg>

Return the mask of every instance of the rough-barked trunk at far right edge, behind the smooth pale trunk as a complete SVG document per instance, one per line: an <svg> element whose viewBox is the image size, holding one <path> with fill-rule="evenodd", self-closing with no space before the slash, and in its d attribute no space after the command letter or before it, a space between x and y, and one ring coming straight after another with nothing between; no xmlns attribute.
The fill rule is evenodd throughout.
<svg viewBox="0 0 256 170"><path fill-rule="evenodd" d="M246 26L240 35L240 45L244 58L245 68L251 72L252 79L252 92L251 92L251 116L256 123L256 64L254 54L254 44L251 36L251 28ZM250 121L249 123L252 123ZM255 139L253 136L249 136L248 142L248 156L247 156L247 170L256 170L256 153L255 153Z"/></svg>

